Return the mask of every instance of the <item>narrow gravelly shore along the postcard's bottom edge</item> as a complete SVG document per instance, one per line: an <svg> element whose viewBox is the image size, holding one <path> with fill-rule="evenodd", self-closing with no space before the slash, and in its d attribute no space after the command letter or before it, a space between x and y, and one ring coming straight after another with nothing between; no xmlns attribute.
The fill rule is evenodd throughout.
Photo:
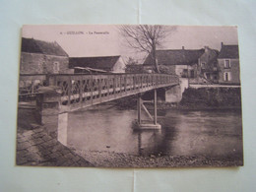
<svg viewBox="0 0 256 192"><path fill-rule="evenodd" d="M223 167L240 166L243 160L237 157L207 158L203 156L133 156L124 153L75 151L81 157L91 161L97 167Z"/></svg>

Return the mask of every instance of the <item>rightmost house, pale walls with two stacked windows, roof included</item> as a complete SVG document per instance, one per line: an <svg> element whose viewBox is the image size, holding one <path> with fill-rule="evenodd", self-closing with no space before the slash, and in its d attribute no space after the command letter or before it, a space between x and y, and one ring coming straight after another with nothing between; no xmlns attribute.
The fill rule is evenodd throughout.
<svg viewBox="0 0 256 192"><path fill-rule="evenodd" d="M220 67L220 84L240 84L238 45L225 45L222 42L218 64Z"/></svg>

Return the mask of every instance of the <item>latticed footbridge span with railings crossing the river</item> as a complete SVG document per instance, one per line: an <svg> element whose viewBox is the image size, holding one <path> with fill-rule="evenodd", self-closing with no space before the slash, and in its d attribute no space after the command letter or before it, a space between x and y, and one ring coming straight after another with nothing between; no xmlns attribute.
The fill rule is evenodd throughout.
<svg viewBox="0 0 256 192"><path fill-rule="evenodd" d="M58 86L62 106L81 107L178 83L177 76L165 74L21 74L19 99L34 100L40 87Z"/></svg>

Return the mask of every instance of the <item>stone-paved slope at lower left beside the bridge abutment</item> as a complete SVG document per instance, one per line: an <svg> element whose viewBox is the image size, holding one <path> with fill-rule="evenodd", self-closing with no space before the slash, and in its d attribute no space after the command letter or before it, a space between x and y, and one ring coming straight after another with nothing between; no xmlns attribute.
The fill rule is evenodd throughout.
<svg viewBox="0 0 256 192"><path fill-rule="evenodd" d="M36 124L33 109L18 110L16 164L34 166L94 166L49 136Z"/></svg>

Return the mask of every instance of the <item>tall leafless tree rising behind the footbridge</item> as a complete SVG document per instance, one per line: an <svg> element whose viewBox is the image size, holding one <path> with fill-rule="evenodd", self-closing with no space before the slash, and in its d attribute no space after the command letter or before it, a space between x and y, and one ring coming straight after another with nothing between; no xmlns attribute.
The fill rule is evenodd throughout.
<svg viewBox="0 0 256 192"><path fill-rule="evenodd" d="M160 73L156 49L161 46L162 40L174 30L174 27L165 26L121 26L120 32L130 47L147 52L153 60L157 73Z"/></svg>

